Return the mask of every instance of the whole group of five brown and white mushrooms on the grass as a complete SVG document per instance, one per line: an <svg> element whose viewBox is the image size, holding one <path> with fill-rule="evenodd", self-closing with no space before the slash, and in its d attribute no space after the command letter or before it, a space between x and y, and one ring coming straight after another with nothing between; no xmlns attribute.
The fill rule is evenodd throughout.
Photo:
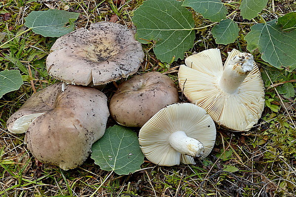
<svg viewBox="0 0 296 197"><path fill-rule="evenodd" d="M248 131L264 107L264 88L251 54L233 49L222 66L218 49L185 59L179 85L192 103L178 103L178 90L160 72L136 75L121 83L110 100L97 89L137 72L142 45L127 27L100 22L56 40L46 60L48 73L66 83L37 92L7 121L8 131L26 132L34 157L68 170L82 164L111 117L120 125L142 127L141 149L158 165L195 164L214 147L215 122ZM110 110L110 112L109 112ZM212 119L213 118L213 119ZM214 120L214 121L213 121Z"/></svg>

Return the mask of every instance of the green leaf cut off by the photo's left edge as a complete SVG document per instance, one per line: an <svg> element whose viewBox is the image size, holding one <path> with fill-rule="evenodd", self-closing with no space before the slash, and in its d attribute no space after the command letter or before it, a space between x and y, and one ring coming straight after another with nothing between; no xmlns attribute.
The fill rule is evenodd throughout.
<svg viewBox="0 0 296 197"><path fill-rule="evenodd" d="M6 93L18 90L23 84L19 70L3 70L0 72L0 98Z"/></svg>

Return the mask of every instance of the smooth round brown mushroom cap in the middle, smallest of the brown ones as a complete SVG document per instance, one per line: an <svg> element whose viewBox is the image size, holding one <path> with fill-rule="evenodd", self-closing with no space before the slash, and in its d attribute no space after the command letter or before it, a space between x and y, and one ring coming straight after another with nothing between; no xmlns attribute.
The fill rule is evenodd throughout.
<svg viewBox="0 0 296 197"><path fill-rule="evenodd" d="M178 101L178 90L170 77L148 72L121 83L109 109L118 124L142 127L161 108Z"/></svg>

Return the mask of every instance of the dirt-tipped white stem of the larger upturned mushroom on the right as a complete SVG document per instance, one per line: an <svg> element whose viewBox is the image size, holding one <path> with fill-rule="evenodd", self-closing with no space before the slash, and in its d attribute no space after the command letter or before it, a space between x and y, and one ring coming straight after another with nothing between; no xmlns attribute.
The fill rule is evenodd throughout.
<svg viewBox="0 0 296 197"><path fill-rule="evenodd" d="M240 53L234 56L229 64L224 66L219 81L220 88L226 93L235 93L254 65L254 57L249 53Z"/></svg>

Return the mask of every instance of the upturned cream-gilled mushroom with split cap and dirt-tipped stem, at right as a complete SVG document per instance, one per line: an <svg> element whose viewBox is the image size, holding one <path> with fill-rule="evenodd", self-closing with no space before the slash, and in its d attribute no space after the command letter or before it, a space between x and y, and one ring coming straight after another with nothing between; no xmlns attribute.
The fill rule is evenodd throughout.
<svg viewBox="0 0 296 197"><path fill-rule="evenodd" d="M264 86L258 66L249 53L233 49L224 67L219 49L185 59L179 84L185 97L204 108L219 125L249 131L264 109Z"/></svg>

